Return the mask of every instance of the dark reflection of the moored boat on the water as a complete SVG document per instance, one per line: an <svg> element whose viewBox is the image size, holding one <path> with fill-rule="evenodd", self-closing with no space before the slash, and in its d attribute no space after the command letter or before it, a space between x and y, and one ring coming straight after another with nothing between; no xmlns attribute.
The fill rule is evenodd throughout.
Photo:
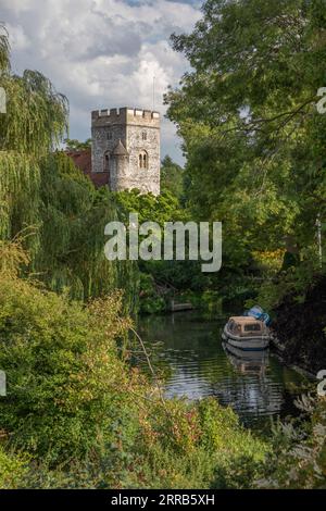
<svg viewBox="0 0 326 511"><path fill-rule="evenodd" d="M229 362L242 374L264 375L268 363L268 350L243 351L229 342L222 342Z"/></svg>

